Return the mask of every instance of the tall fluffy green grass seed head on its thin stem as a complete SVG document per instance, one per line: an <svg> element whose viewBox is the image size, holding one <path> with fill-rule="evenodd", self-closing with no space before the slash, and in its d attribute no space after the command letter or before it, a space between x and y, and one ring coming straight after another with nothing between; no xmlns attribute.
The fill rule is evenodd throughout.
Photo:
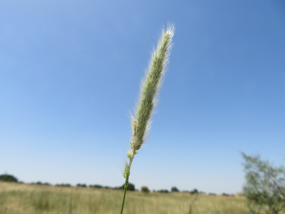
<svg viewBox="0 0 285 214"><path fill-rule="evenodd" d="M137 151L146 143L146 136L151 126L151 117L158 104L158 91L162 86L166 66L169 62L169 55L172 48L172 38L174 36L174 24L168 24L162 30L161 38L157 48L151 54L151 60L145 78L140 87L140 96L135 115L131 115L132 139L130 140L130 150L127 152L128 163L124 165L123 176L125 178L124 195L122 201L123 211L126 189L130 175L130 168Z"/></svg>

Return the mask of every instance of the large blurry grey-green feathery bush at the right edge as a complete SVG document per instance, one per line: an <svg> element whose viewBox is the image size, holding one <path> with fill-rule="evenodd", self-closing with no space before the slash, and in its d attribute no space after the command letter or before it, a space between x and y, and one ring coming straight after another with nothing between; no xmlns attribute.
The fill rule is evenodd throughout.
<svg viewBox="0 0 285 214"><path fill-rule="evenodd" d="M244 157L244 196L252 214L285 213L285 168L273 167L259 156Z"/></svg>

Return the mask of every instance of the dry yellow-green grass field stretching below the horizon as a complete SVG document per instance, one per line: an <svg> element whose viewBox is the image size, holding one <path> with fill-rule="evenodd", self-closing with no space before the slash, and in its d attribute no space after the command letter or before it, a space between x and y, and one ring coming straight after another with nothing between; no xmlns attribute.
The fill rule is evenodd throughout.
<svg viewBox="0 0 285 214"><path fill-rule="evenodd" d="M0 182L0 214L119 214L123 190ZM243 196L128 192L124 214L248 214Z"/></svg>

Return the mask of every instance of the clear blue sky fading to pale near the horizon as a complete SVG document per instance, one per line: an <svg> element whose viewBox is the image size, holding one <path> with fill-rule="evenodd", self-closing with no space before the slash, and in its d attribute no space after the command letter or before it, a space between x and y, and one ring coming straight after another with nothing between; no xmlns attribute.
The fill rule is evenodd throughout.
<svg viewBox="0 0 285 214"><path fill-rule="evenodd" d="M284 0L0 0L0 173L119 186L162 26L170 64L136 188L236 193L285 164Z"/></svg>

